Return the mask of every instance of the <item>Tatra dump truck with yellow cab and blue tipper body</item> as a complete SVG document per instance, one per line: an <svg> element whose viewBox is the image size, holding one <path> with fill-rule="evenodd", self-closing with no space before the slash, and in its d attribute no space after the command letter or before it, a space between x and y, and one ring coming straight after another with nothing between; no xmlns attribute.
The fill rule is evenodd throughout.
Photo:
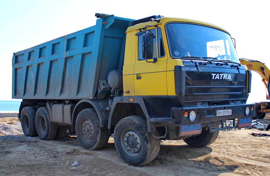
<svg viewBox="0 0 270 176"><path fill-rule="evenodd" d="M221 129L251 126L251 72L225 29L159 15L96 16L95 26L14 53L12 97L22 99L26 136L58 140L69 128L98 150L113 134L121 158L143 165L160 140L203 147Z"/></svg>

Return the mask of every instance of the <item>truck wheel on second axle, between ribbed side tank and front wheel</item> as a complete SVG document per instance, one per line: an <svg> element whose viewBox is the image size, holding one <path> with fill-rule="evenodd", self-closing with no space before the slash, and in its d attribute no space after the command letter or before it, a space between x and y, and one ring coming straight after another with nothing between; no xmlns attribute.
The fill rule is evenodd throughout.
<svg viewBox="0 0 270 176"><path fill-rule="evenodd" d="M108 128L100 127L97 113L93 108L80 111L75 129L79 143L89 150L103 148L109 141Z"/></svg>

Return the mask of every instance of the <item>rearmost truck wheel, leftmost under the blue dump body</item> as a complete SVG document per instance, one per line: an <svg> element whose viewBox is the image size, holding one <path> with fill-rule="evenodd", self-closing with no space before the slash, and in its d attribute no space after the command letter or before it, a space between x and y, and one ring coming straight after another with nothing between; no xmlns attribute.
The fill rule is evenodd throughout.
<svg viewBox="0 0 270 176"><path fill-rule="evenodd" d="M36 132L36 110L33 107L24 107L21 112L21 126L25 136L38 136Z"/></svg>

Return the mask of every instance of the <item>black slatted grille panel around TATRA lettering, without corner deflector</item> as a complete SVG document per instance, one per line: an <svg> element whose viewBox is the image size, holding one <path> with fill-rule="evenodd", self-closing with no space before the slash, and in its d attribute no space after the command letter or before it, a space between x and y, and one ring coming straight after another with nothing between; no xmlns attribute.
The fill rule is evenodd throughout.
<svg viewBox="0 0 270 176"><path fill-rule="evenodd" d="M198 74L204 76L199 76ZM227 73L231 75L231 80L211 81L212 74L213 72L186 72L185 103L211 100L240 100L246 98L246 74Z"/></svg>

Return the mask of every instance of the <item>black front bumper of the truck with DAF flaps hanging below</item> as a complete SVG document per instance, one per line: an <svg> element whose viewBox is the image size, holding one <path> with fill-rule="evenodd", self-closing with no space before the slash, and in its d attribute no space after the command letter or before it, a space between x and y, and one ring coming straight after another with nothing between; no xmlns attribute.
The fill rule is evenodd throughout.
<svg viewBox="0 0 270 176"><path fill-rule="evenodd" d="M178 136L189 136L200 134L203 129L203 124L207 124L211 132L227 128L250 127L252 116L254 116L254 110L250 111L249 114L246 115L245 109L247 106L250 108L251 106L254 107L254 105L255 104L233 104L222 106L173 107L171 108L171 118L149 118L147 120L152 129L154 127L153 124L155 123L165 123L166 134L167 126L178 126L180 127L180 133ZM192 110L196 112L196 119L194 121L189 119L189 114ZM231 110L232 113L231 115L217 116L217 112L219 110ZM184 111L188 112L187 118L184 118L183 116ZM235 119L238 119L237 126ZM233 120L233 126L224 126L225 120ZM219 124L221 124L221 128L217 127ZM152 129L150 131L152 131ZM164 136L166 136L166 134Z"/></svg>

